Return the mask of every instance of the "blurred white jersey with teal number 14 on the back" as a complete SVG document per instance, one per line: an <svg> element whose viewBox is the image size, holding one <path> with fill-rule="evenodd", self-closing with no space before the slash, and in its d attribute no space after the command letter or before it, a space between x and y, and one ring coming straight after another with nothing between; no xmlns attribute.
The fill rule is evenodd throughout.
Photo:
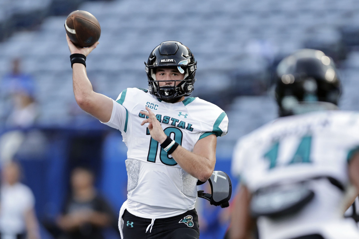
<svg viewBox="0 0 359 239"><path fill-rule="evenodd" d="M359 146L359 114L321 111L279 118L243 137L232 170L251 193L283 182L331 177L349 185L348 160ZM320 233L324 238L359 238L353 220L343 218L344 192L326 178L312 180L314 199L298 214L259 217L261 239Z"/></svg>

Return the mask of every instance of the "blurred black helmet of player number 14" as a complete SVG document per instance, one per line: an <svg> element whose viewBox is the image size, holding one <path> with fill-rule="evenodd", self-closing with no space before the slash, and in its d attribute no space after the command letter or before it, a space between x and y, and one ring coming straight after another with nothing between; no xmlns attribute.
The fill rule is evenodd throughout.
<svg viewBox="0 0 359 239"><path fill-rule="evenodd" d="M333 60L322 51L301 49L276 68L279 116L336 109L341 84Z"/></svg>

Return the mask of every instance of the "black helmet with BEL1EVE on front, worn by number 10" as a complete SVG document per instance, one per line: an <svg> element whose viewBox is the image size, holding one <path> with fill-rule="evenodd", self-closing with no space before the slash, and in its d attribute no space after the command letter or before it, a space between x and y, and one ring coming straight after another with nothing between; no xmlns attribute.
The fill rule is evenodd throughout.
<svg viewBox="0 0 359 239"><path fill-rule="evenodd" d="M150 93L159 99L171 99L181 96L188 96L194 89L195 73L197 62L185 45L177 41L167 41L159 44L148 57L146 65L146 74L148 78L148 89ZM185 73L185 77L176 86L159 87L156 80L157 67L177 66L181 73Z"/></svg>

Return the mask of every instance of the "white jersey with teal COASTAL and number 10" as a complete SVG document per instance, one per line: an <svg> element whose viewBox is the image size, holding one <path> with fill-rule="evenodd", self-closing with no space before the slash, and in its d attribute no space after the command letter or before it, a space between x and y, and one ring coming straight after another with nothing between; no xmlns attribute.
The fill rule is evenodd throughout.
<svg viewBox="0 0 359 239"><path fill-rule="evenodd" d="M126 143L127 207L142 218L167 218L194 209L197 179L185 172L141 126L148 106L161 122L165 134L193 151L199 139L227 134L228 118L222 109L189 97L167 103L146 89L128 88L113 101L112 115L105 123L121 131Z"/></svg>

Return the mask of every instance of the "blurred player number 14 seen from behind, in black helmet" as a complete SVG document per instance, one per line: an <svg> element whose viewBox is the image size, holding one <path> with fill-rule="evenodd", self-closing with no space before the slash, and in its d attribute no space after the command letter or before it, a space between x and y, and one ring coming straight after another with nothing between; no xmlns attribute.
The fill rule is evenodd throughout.
<svg viewBox="0 0 359 239"><path fill-rule="evenodd" d="M234 150L241 188L230 239L250 238L252 218L260 239L359 238L354 221L343 217L359 189L359 113L336 110L340 81L321 51L295 52L277 74L281 118Z"/></svg>

